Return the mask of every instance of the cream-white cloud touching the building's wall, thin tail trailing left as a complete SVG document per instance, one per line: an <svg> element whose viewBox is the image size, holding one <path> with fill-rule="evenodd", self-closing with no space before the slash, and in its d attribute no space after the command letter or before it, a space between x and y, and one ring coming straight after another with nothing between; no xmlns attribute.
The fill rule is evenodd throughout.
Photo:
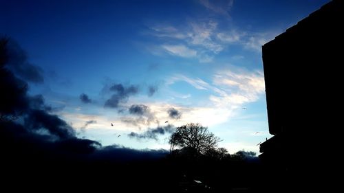
<svg viewBox="0 0 344 193"><path fill-rule="evenodd" d="M174 84L178 81L187 82L195 89L213 91L214 94L209 96L209 100L217 108L225 109L229 107L236 109L244 103L255 102L265 91L264 75L261 71L222 70L215 73L212 84L200 78L189 78L178 74L169 78L166 84Z"/></svg>

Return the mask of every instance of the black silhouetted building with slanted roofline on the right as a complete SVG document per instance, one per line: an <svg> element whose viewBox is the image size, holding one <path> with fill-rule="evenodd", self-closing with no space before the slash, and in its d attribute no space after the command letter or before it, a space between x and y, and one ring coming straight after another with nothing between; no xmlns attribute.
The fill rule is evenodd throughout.
<svg viewBox="0 0 344 193"><path fill-rule="evenodd" d="M281 181L327 170L323 154L338 148L333 135L342 100L343 7L341 0L330 1L262 47L275 136L260 145L259 157Z"/></svg>

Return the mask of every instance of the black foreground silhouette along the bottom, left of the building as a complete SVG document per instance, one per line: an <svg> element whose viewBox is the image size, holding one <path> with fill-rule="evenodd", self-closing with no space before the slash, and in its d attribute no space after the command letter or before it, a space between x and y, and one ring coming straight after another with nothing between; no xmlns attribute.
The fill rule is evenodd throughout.
<svg viewBox="0 0 344 193"><path fill-rule="evenodd" d="M256 192L260 187L257 157L193 159L116 146L90 150L76 147L80 141L75 139L33 140L1 137L1 147L11 146L2 151L1 187L11 192Z"/></svg>

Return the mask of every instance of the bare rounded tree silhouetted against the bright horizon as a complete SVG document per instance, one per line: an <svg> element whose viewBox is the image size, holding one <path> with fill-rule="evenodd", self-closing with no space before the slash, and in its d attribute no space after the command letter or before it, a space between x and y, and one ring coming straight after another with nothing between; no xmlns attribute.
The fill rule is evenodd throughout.
<svg viewBox="0 0 344 193"><path fill-rule="evenodd" d="M221 141L201 124L186 124L176 128L170 137L171 151L175 146L187 149L191 155L205 155L208 150L217 147Z"/></svg>

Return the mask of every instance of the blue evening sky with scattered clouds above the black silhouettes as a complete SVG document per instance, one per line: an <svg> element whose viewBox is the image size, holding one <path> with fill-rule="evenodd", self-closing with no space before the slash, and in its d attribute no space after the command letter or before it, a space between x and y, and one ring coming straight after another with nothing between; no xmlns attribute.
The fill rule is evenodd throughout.
<svg viewBox="0 0 344 193"><path fill-rule="evenodd" d="M200 123L233 153L270 138L261 45L325 0L3 1L30 95L103 146L169 149ZM111 123L113 126L111 126Z"/></svg>

